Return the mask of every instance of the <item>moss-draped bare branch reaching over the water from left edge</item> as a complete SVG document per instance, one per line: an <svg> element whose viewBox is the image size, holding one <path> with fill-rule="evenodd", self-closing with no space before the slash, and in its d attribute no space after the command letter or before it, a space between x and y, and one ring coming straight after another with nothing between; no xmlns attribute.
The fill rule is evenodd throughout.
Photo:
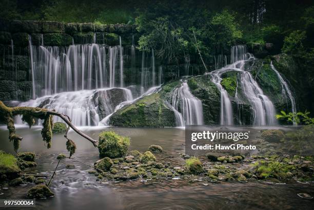
<svg viewBox="0 0 314 210"><path fill-rule="evenodd" d="M7 107L2 101L0 101L0 123L4 123L7 125L7 128L9 130L9 140L13 142L15 151L17 151L19 148L19 141L23 139L22 137L16 135L15 133L14 116L18 115L21 115L22 120L28 123L30 127L35 124L35 119L44 120L42 137L43 140L47 143L47 148L50 148L51 146L53 128L52 116L60 117L66 124L69 125L69 127L71 127L75 132L77 132L78 135L81 135L82 137L90 141L95 147L97 146L96 140L93 140L85 133L78 130L71 123L69 117L65 116L62 113L39 107Z"/></svg>

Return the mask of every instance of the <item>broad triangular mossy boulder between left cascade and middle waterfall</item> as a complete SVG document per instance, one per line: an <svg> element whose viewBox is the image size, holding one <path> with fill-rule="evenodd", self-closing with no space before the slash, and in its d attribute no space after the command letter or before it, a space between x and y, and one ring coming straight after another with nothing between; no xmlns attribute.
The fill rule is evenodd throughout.
<svg viewBox="0 0 314 210"><path fill-rule="evenodd" d="M173 127L175 116L161 93L153 93L114 112L109 123L123 127Z"/></svg>

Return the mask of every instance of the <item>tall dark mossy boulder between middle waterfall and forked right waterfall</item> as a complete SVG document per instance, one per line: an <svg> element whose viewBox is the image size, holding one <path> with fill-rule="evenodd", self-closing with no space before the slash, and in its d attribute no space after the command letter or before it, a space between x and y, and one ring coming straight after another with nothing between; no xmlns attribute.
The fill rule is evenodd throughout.
<svg viewBox="0 0 314 210"><path fill-rule="evenodd" d="M205 124L220 122L220 91L211 82L211 75L201 75L188 79L188 85L193 96L202 101Z"/></svg>

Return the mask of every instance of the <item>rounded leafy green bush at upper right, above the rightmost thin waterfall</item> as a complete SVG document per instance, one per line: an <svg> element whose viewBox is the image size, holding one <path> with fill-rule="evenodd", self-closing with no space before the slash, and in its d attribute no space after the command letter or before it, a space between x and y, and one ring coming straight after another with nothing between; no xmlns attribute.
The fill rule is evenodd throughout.
<svg viewBox="0 0 314 210"><path fill-rule="evenodd" d="M305 31L296 30L291 32L284 39L284 45L282 51L293 56L301 56L305 53L303 41L306 38Z"/></svg>

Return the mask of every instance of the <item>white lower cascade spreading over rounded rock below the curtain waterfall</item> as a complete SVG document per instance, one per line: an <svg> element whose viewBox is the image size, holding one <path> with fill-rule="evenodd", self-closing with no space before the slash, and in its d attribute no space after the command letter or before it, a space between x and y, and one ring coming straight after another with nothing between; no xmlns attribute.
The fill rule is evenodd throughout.
<svg viewBox="0 0 314 210"><path fill-rule="evenodd" d="M28 102L23 102L19 106L43 107L55 109L70 117L76 126L98 125L100 113L108 116L114 111L112 100L130 101L132 93L129 89L114 88L121 91L119 100L112 99L110 91L112 88L98 90L78 90L72 92L57 93L52 96L44 96ZM100 104L102 107L100 107ZM60 118L54 117L54 122L62 122ZM17 121L18 122L18 121ZM22 123L21 119L19 123Z"/></svg>

